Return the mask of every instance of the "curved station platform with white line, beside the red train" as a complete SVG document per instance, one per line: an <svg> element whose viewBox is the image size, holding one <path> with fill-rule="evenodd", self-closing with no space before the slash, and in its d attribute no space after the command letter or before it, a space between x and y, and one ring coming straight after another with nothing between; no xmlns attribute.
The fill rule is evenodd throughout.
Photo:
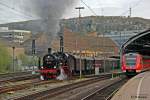
<svg viewBox="0 0 150 100"><path fill-rule="evenodd" d="M111 100L150 100L150 71L130 79Z"/></svg>

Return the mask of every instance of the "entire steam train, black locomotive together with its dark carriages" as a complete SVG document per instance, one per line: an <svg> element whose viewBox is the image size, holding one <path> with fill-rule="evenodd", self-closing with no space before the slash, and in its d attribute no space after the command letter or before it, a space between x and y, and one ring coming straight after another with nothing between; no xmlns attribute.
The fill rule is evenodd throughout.
<svg viewBox="0 0 150 100"><path fill-rule="evenodd" d="M119 60L108 58L101 59L95 57L78 57L68 53L55 52L49 53L43 57L43 66L40 66L41 80L47 79L66 79L72 75L79 75L80 71L83 75L94 74L95 67L99 67L99 72L109 72L114 69L119 69Z"/></svg>

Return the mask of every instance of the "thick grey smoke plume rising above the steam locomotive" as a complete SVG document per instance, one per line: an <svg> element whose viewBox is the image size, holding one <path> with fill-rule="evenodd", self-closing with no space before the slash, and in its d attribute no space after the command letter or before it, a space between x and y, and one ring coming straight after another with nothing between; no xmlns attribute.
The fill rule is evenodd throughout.
<svg viewBox="0 0 150 100"><path fill-rule="evenodd" d="M23 0L24 11L37 16L38 21L26 25L33 33L42 32L48 35L50 43L59 31L59 21L66 11L78 0Z"/></svg>

